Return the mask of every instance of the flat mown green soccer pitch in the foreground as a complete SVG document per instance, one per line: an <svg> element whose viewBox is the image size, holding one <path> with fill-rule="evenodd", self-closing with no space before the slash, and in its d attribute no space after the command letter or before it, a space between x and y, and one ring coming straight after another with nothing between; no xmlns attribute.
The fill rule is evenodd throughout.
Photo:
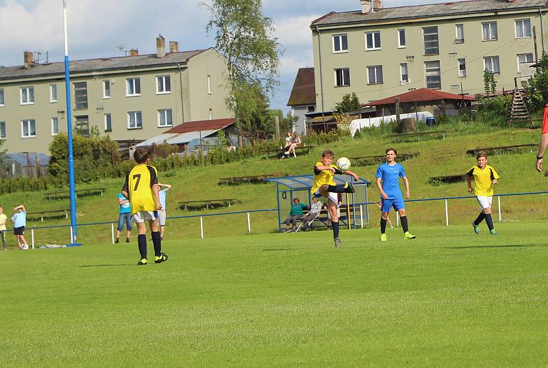
<svg viewBox="0 0 548 368"><path fill-rule="evenodd" d="M1 252L0 366L545 366L546 224L495 228Z"/></svg>

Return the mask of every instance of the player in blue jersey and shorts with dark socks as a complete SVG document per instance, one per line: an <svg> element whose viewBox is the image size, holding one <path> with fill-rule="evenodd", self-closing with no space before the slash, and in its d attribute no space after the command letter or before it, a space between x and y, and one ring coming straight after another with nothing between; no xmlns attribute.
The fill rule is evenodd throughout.
<svg viewBox="0 0 548 368"><path fill-rule="evenodd" d="M390 208L394 207L399 212L401 228L403 228L403 239L414 239L415 235L409 233L409 225L406 216L406 206L403 204L403 196L399 190L399 178L406 184L406 198L409 198L409 181L406 176L406 170L396 162L397 153L394 148L386 150L386 163L382 163L377 169L377 187L381 192L381 241L387 241L386 238L386 219Z"/></svg>

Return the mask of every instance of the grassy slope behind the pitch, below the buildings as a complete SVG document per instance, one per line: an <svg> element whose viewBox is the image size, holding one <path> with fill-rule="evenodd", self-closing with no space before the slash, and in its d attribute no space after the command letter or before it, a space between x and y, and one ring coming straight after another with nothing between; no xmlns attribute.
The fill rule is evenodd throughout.
<svg viewBox="0 0 548 368"><path fill-rule="evenodd" d="M469 129L473 131L473 129ZM471 134L453 133L445 140L427 140L421 142L398 142L392 144L383 138L364 137L360 140L345 140L332 144L329 148L337 155L365 156L384 153L388 146L395 146L401 153L420 153L419 157L404 161L406 172L412 186L413 198L431 198L441 196L465 196L466 184L451 184L433 186L428 183L430 176L458 174L470 168L475 159L466 156L464 151L476 146L496 146L538 142L538 131L509 129L495 130L488 133L482 131ZM217 209L212 211L199 211L196 213L214 213L222 211L244 211L246 209L269 209L276 207L275 186L272 184L255 184L226 186L218 185L219 178L225 176L245 176L256 174L310 174L312 166L318 159L321 150L327 146L314 149L310 155L302 155L297 159L275 160L247 159L244 162L229 163L221 166L208 166L206 168L189 168L172 172L172 176L166 177L160 172L160 179L173 184L173 190L169 193L168 215L188 215L186 211L175 210L177 202L182 200L206 199L206 198L240 198L241 204L231 209ZM501 173L500 184L496 187L497 193L531 192L544 190L546 181L540 174L534 172L535 153L521 153L512 155L495 155L490 157L490 164ZM353 171L360 176L372 180L376 166L353 166ZM116 194L121 187L121 180L109 179L92 183L91 185L78 185L84 187L108 187L104 196L79 196L77 200L77 213L79 223L102 222L117 220ZM373 198L377 197L377 189L370 189ZM540 197L543 198L543 197ZM18 193L4 195L0 198L6 208L23 202L29 211L38 209L62 209L69 208L68 198L60 200L47 200L42 193ZM495 201L496 202L496 201ZM503 198L502 209L504 220L540 220L545 219L547 207L546 201L533 196L519 198ZM496 207L496 205L495 205ZM445 210L443 202L409 203L409 218L412 226L423 224L445 224ZM376 209L371 207L373 214L372 226L377 226ZM495 209L496 211L496 209ZM10 214L10 211L7 211ZM464 224L478 212L474 200L451 201L449 215L451 224ZM284 213L285 215L285 213ZM67 224L64 218L45 220L47 224ZM166 229L166 238L175 237L199 237L199 220L184 219L169 222ZM29 222L30 226L42 225L36 220ZM247 232L246 216L236 215L230 218L205 218L204 226L206 237L224 236L227 233L244 235ZM251 215L251 229L255 233L267 233L274 231L276 226L275 213L261 213ZM68 238L68 229L40 230L36 232L36 241L43 243L64 244ZM110 226L87 226L79 228L81 241L108 241L110 239Z"/></svg>

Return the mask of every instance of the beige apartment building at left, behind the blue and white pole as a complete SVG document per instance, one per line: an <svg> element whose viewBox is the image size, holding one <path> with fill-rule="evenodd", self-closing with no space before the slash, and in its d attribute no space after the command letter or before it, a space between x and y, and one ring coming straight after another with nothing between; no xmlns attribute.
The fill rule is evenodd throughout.
<svg viewBox="0 0 548 368"><path fill-rule="evenodd" d="M146 140L177 124L232 116L225 107L226 59L215 49L178 51L161 36L157 53L70 63L73 127L97 127L112 140ZM49 155L53 137L66 132L64 63L0 67L0 138L8 153Z"/></svg>

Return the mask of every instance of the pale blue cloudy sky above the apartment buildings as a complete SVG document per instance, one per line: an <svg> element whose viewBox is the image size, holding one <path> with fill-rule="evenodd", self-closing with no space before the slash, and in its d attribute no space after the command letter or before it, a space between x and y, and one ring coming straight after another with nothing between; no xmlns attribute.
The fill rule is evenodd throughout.
<svg viewBox="0 0 548 368"><path fill-rule="evenodd" d="M179 51L214 46L205 25L210 18L201 0L66 0L69 57L81 60L124 55L136 48L155 53L162 34L179 42ZM203 0L210 3L211 0ZM384 0L384 7L436 3L436 0ZM263 14L273 19L282 44L280 85L269 96L271 108L286 106L299 68L314 66L310 23L329 12L360 10L359 0L262 0ZM62 0L0 0L0 65L23 64L23 51L49 53L49 62L64 60Z"/></svg>

